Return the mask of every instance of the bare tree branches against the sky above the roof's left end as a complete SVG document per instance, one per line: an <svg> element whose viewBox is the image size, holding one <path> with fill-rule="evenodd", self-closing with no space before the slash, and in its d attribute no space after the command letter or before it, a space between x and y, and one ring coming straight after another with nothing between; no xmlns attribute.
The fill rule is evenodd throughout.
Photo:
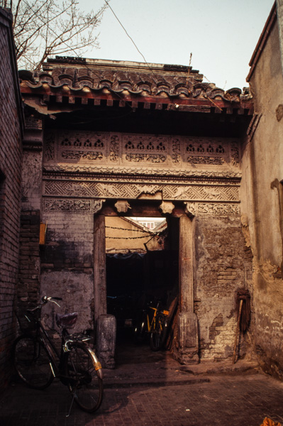
<svg viewBox="0 0 283 426"><path fill-rule="evenodd" d="M19 67L39 70L50 55L98 47L97 28L107 5L96 13L79 10L77 0L13 2L13 33Z"/></svg>

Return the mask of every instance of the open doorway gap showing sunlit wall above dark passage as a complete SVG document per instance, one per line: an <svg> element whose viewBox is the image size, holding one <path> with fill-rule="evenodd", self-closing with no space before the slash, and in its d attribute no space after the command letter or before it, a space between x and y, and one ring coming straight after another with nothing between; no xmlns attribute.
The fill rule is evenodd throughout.
<svg viewBox="0 0 283 426"><path fill-rule="evenodd" d="M126 348L133 358L142 312L158 301L168 309L178 297L179 220L106 217L105 229L107 313L116 317L117 359Z"/></svg>

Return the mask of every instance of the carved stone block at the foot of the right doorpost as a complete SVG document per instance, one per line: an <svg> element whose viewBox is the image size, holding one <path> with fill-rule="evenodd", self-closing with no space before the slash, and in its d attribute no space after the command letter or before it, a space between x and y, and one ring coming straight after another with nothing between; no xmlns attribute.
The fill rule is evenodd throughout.
<svg viewBox="0 0 283 426"><path fill-rule="evenodd" d="M180 312L177 326L178 344L174 358L180 364L199 364L199 336L196 314Z"/></svg>

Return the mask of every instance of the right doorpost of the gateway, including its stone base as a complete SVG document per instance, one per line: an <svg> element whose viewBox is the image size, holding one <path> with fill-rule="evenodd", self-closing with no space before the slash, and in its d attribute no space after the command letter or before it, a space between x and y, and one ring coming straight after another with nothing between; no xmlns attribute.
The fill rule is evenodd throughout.
<svg viewBox="0 0 283 426"><path fill-rule="evenodd" d="M179 316L177 359L181 364L199 363L199 339L194 314L194 221L179 219Z"/></svg>

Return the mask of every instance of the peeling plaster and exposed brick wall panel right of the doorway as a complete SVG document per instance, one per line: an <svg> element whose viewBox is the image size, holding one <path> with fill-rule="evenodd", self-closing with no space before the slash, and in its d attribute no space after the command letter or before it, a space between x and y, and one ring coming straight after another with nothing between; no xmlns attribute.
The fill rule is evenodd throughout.
<svg viewBox="0 0 283 426"><path fill-rule="evenodd" d="M237 291L245 287L253 297L251 256L238 217L196 219L194 309L201 359L219 361L233 355ZM252 327L241 337L240 356L250 355Z"/></svg>

